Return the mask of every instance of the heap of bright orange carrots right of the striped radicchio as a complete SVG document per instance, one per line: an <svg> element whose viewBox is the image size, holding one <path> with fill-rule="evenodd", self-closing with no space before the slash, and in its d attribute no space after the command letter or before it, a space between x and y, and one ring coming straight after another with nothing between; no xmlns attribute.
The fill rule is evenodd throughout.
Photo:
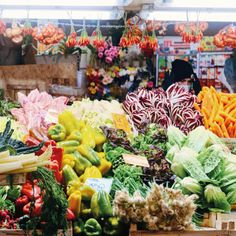
<svg viewBox="0 0 236 236"><path fill-rule="evenodd" d="M236 95L219 93L213 87L204 87L198 95L204 125L221 138L236 138Z"/></svg>

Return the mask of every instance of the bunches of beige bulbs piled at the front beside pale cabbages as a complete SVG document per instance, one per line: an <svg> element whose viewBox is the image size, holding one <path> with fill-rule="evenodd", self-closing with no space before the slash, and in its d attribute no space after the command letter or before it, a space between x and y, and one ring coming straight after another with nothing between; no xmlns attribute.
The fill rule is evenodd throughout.
<svg viewBox="0 0 236 236"><path fill-rule="evenodd" d="M117 191L114 213L127 222L145 223L148 230L191 230L195 199L195 195L152 184L146 198L138 191L132 197Z"/></svg>

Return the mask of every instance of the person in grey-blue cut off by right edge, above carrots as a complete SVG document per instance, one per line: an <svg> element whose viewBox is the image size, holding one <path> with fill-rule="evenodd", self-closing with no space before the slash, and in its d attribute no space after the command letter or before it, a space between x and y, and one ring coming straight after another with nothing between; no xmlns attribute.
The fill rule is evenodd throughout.
<svg viewBox="0 0 236 236"><path fill-rule="evenodd" d="M230 93L236 93L236 49L234 49L230 58L225 61L224 74L230 86Z"/></svg>

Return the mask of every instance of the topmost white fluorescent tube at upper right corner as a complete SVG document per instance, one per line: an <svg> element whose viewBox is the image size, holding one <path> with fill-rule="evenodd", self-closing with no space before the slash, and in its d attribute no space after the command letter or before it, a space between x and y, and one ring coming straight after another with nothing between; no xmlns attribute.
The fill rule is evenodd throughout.
<svg viewBox="0 0 236 236"><path fill-rule="evenodd" d="M169 3L169 5L168 5ZM171 0L167 2L169 7L181 8L236 8L235 0Z"/></svg>

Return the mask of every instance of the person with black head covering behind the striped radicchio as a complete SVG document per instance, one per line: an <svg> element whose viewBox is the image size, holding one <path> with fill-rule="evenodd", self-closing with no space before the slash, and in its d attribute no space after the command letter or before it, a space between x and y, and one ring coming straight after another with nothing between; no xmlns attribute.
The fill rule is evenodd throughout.
<svg viewBox="0 0 236 236"><path fill-rule="evenodd" d="M174 60L171 65L172 70L169 77L163 82L163 89L167 90L172 84L178 83L186 91L193 91L195 95L198 95L201 85L192 65L180 59Z"/></svg>

